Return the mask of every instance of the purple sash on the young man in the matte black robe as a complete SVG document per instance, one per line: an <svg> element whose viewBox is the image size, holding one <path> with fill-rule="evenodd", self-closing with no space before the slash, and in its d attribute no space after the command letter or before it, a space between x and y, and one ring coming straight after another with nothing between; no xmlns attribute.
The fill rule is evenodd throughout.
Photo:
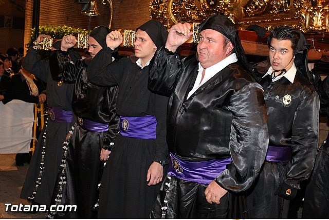
<svg viewBox="0 0 329 220"><path fill-rule="evenodd" d="M145 115L140 117L120 116L120 134L137 139L156 139L156 117Z"/></svg>

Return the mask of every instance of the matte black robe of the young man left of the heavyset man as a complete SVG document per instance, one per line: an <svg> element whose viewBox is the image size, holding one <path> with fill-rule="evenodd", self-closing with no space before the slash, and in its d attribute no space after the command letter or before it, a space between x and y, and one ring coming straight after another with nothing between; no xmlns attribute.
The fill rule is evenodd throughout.
<svg viewBox="0 0 329 220"><path fill-rule="evenodd" d="M98 52L97 63L111 59L108 47ZM161 183L147 186L147 173L153 161L168 161L166 110L168 97L148 89L149 66L136 64L137 58L124 57L108 66L90 65L91 81L103 86L119 86L117 114L154 115L156 139L140 139L118 134L101 181L99 218L148 218ZM166 173L165 166L164 173Z"/></svg>

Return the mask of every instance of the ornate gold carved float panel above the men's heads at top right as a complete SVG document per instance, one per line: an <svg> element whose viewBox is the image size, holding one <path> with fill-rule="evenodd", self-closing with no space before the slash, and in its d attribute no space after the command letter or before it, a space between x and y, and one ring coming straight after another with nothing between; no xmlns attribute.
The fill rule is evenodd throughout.
<svg viewBox="0 0 329 220"><path fill-rule="evenodd" d="M329 0L153 0L150 17L170 27L202 22L209 15L229 17L239 29L290 25L301 31L329 31ZM298 24L298 25L296 25Z"/></svg>

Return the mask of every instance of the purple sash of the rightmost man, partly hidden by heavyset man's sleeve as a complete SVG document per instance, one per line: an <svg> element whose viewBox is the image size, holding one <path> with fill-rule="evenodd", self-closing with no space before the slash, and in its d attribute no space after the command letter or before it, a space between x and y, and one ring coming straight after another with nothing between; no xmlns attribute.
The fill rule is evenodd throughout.
<svg viewBox="0 0 329 220"><path fill-rule="evenodd" d="M268 146L265 161L286 164L291 159L291 147Z"/></svg>

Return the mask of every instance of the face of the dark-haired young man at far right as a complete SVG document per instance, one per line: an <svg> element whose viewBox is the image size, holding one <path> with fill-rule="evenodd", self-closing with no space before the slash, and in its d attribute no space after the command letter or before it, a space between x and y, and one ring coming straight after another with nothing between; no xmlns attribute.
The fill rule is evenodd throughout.
<svg viewBox="0 0 329 220"><path fill-rule="evenodd" d="M273 70L289 70L291 66L293 66L295 56L292 46L293 43L288 39L282 41L279 41L276 38L271 39L269 61Z"/></svg>

